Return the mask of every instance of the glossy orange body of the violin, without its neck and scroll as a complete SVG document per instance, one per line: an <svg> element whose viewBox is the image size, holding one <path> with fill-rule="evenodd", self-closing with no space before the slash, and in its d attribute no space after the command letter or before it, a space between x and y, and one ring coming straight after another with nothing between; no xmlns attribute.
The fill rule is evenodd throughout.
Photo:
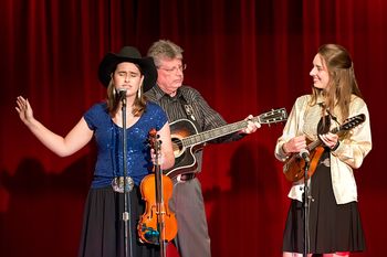
<svg viewBox="0 0 387 257"><path fill-rule="evenodd" d="M145 176L140 184L143 200L146 201L145 212L138 222L137 232L143 242L158 245L160 239L169 242L177 235L175 213L169 211L168 202L172 196L174 183L167 175L161 175L161 203L157 201L157 175Z"/></svg>

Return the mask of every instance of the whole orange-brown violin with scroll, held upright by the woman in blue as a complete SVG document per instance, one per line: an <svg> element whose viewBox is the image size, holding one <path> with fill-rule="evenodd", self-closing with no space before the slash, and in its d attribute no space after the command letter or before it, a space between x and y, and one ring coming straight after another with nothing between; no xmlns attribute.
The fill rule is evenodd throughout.
<svg viewBox="0 0 387 257"><path fill-rule="evenodd" d="M158 164L160 140L156 129L149 131L149 143L155 152L154 173L146 175L140 183L142 197L146 202L137 232L142 242L160 245L160 255L166 256L166 243L177 235L175 213L168 207L172 195L174 183Z"/></svg>

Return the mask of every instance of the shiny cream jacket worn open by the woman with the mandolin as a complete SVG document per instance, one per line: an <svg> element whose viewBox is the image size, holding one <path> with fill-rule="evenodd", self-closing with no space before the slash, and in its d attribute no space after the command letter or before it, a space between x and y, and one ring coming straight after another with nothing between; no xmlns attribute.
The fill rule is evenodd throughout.
<svg viewBox="0 0 387 257"><path fill-rule="evenodd" d="M283 152L282 144L290 139L301 135L305 135L311 141L318 139L316 130L322 117L322 109L320 105L310 106L307 104L310 99L311 95L299 97L289 115L283 133L275 146L275 158L280 161L285 161L289 158ZM349 117L359 114L364 114L366 120L351 129L344 137L341 137L338 148L331 152L332 184L337 204L357 201L357 188L353 169L358 169L362 165L364 158L372 149L367 105L362 98L353 96L349 105ZM331 126L331 128L338 127L333 120ZM294 182L287 196L302 201L303 186L303 180Z"/></svg>

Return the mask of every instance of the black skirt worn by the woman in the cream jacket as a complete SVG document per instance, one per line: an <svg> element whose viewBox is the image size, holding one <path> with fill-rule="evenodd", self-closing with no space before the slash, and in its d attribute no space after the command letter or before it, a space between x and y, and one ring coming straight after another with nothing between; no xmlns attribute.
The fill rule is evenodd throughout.
<svg viewBox="0 0 387 257"><path fill-rule="evenodd" d="M328 157L328 152L324 152L321 160ZM365 239L357 202L336 204L330 167L317 165L311 178L310 192L308 253L363 251ZM304 251L303 204L295 200L292 200L287 214L283 251Z"/></svg>

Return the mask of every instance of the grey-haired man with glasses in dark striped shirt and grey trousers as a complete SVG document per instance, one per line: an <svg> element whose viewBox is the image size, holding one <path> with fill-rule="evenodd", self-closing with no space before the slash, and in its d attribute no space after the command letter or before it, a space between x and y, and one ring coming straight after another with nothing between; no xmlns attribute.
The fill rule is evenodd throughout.
<svg viewBox="0 0 387 257"><path fill-rule="evenodd" d="M169 202L170 210L175 212L178 223L175 245L180 257L209 257L211 250L205 203L200 182L196 178L196 173L201 170L202 151L201 149L188 148L181 156L176 154L178 150L184 150L184 148L174 140L174 132L180 129L186 136L190 136L187 135L187 131L194 135L200 133L224 126L227 122L207 104L198 90L182 85L184 71L187 65L182 63L182 49L180 46L168 40L159 40L150 46L148 56L154 58L158 78L157 85L145 95L149 100L160 105L167 113L171 125L172 142L176 143L176 148L179 148L174 149L176 150L176 161L172 178L176 184ZM251 115L247 118L248 126L243 130L216 138L210 142L234 141L247 133L254 132L260 125L250 121L251 118ZM192 157L189 158L191 153ZM184 172L179 173L179 168Z"/></svg>

